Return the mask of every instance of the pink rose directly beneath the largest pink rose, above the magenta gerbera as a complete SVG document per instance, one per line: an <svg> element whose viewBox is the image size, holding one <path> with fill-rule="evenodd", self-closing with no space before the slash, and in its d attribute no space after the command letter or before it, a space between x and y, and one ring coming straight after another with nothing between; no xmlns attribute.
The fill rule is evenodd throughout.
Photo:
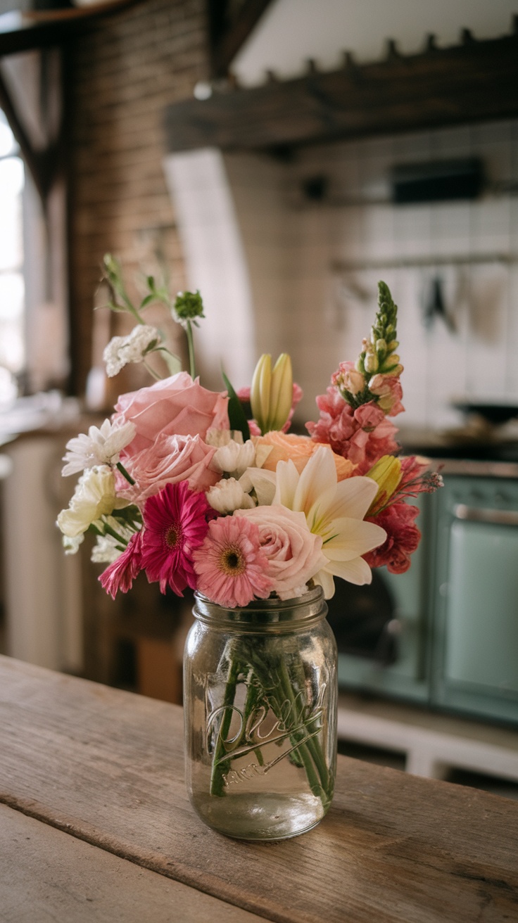
<svg viewBox="0 0 518 923"><path fill-rule="evenodd" d="M178 481L188 481L189 488L195 492L208 490L222 476L211 469L215 451L199 436L161 433L151 446L125 459L126 471L136 483L128 484L126 478L117 473L117 494L132 503L142 503L158 494L166 484Z"/></svg>

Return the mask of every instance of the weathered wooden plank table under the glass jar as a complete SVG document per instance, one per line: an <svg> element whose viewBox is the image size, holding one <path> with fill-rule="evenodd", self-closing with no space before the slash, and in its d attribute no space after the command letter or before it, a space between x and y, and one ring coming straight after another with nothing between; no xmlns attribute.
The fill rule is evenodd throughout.
<svg viewBox="0 0 518 923"><path fill-rule="evenodd" d="M198 820L175 705L0 657L2 923L518 920L518 803L340 757L327 818Z"/></svg>

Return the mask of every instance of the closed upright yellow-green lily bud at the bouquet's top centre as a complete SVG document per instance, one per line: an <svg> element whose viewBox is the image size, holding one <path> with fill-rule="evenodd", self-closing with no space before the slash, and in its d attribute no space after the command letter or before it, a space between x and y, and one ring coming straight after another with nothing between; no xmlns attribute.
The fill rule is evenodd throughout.
<svg viewBox="0 0 518 923"><path fill-rule="evenodd" d="M250 388L250 406L261 433L282 429L293 401L292 361L283 353L271 369L271 355L262 354Z"/></svg>

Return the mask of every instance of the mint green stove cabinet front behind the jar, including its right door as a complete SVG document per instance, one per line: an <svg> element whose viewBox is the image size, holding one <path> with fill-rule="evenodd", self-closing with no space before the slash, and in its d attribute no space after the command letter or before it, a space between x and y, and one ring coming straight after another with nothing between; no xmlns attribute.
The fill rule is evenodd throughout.
<svg viewBox="0 0 518 923"><path fill-rule="evenodd" d="M518 480L447 474L419 506L412 567L380 571L397 658L339 652L340 684L518 724Z"/></svg>

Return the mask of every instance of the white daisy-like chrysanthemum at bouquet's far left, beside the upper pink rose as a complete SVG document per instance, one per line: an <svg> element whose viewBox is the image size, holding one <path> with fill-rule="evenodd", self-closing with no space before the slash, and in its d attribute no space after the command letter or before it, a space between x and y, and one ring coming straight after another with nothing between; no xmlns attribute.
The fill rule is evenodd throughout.
<svg viewBox="0 0 518 923"><path fill-rule="evenodd" d="M78 437L69 439L66 443L68 451L63 458L66 465L62 474L76 474L95 465L116 464L119 461L120 450L131 442L136 432L134 423L112 426L109 420L104 420L101 428L90 426L88 436L86 433L80 433Z"/></svg>

